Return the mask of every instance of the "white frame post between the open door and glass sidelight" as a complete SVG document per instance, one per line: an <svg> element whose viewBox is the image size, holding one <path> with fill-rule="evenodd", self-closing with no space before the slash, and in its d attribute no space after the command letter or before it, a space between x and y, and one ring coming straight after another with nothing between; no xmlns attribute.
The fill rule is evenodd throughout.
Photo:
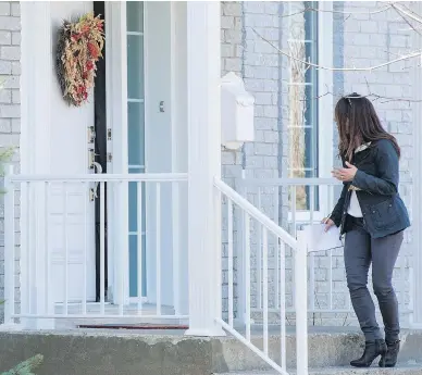
<svg viewBox="0 0 422 375"><path fill-rule="evenodd" d="M105 87L107 127L112 139L107 149L113 155L109 173L127 173L127 50L126 2L105 1ZM108 274L109 296L114 303L128 303L128 212L127 183L108 189ZM126 249L114 253L115 249ZM124 272L126 270L126 272Z"/></svg>

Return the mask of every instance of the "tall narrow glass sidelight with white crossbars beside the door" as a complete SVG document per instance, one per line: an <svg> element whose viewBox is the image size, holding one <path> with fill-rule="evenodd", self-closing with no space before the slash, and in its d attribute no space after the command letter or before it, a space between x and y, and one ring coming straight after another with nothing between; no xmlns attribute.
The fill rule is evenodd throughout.
<svg viewBox="0 0 422 375"><path fill-rule="evenodd" d="M144 75L144 2L126 2L127 41L127 149L128 173L145 173L145 75ZM141 257L142 290L146 296L146 221L145 184L129 183L128 243L129 297L138 295L138 257ZM140 201L139 201L140 200Z"/></svg>

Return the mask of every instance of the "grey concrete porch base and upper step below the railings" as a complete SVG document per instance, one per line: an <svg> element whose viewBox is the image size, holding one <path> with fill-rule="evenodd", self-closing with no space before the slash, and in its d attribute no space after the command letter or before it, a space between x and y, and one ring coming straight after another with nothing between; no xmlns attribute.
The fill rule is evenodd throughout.
<svg viewBox="0 0 422 375"><path fill-rule="evenodd" d="M277 329L280 332L280 327ZM270 358L280 363L277 329L271 332L269 350ZM261 329L252 332L252 341L259 348L263 342L261 334ZM288 332L286 343L287 368L294 370L294 332ZM422 332L404 332L401 343L400 363L421 362L422 365ZM347 366L362 350L363 339L357 329L310 328L310 367ZM229 336L200 338L183 336L181 330L127 329L0 332L0 374L37 353L45 357L45 364L37 375L209 375L271 370L264 361ZM347 374L355 374L350 373L355 370L346 370ZM400 371L400 367L396 371ZM419 367L409 371L413 371L410 375L422 375L422 372L418 372Z"/></svg>

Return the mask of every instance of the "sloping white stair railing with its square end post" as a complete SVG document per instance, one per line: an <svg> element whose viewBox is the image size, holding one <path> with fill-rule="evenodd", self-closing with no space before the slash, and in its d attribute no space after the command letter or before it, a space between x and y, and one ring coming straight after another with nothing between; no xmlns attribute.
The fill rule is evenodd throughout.
<svg viewBox="0 0 422 375"><path fill-rule="evenodd" d="M241 197L238 192L232 189L228 185L221 179L215 179L214 185L216 189L223 196L223 216L226 217L224 222L226 225L223 232L226 234L224 253L227 264L222 265L223 271L227 272L227 277L222 279L222 288L227 289L227 305L225 318L219 317L218 321L224 329L234 335L238 340L245 343L257 355L264 360L270 366L276 370L280 374L287 374L286 365L286 282L285 282L285 262L286 262L286 248L290 247L294 250L294 259L296 264L296 279L297 279L297 292L296 292L296 342L297 342L297 374L308 374L308 322L307 322L307 253L306 247L300 236L296 240L295 237L289 235L285 229L280 227L274 221L270 220L265 214L258 210L248 200ZM241 226L243 238L240 241L234 240L235 221L234 212L240 213L238 216L237 227ZM257 247L253 246L251 238L253 234L257 234L257 228L260 228L261 250L262 250L262 346L252 343L251 326L253 317L252 301L253 293L251 292L251 271L252 260L257 257ZM224 238L224 237L223 237ZM236 248L235 248L236 246ZM276 250L275 250L276 249ZM275 335L280 335L280 357L270 358L270 309L269 300L272 291L270 290L271 279L270 277L270 257L273 252L278 253L280 271L278 284L278 314L280 314L280 330ZM235 268L235 259L237 258L237 270ZM278 272L277 272L278 273ZM235 275L237 276L237 287L241 289L241 296L235 296ZM274 276L274 275L271 275ZM224 297L224 296L223 296ZM235 309L235 298L237 298L237 309ZM235 320L239 317L239 321L244 322L243 329L238 326ZM241 316L245 314L245 316Z"/></svg>

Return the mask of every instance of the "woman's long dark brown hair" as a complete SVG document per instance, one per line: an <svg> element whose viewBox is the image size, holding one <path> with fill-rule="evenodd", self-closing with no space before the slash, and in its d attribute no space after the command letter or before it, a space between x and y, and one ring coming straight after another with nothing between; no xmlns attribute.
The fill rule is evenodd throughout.
<svg viewBox="0 0 422 375"><path fill-rule="evenodd" d="M368 98L356 92L343 97L336 104L335 120L340 138L338 152L346 160L351 161L355 149L362 143L380 139L390 140L400 157L400 148L396 138L384 130L375 109Z"/></svg>

